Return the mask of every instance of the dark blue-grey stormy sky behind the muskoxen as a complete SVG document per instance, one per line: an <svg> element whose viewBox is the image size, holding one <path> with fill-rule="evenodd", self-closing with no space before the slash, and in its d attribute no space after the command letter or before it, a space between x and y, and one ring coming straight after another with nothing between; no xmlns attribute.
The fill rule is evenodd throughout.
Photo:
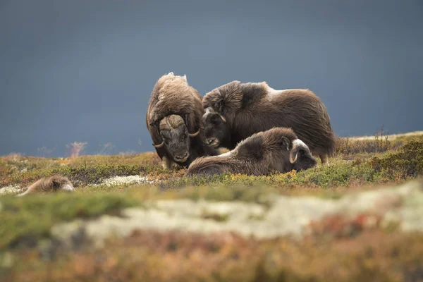
<svg viewBox="0 0 423 282"><path fill-rule="evenodd" d="M309 88L337 135L422 128L422 0L0 0L0 155L152 151L156 80Z"/></svg>

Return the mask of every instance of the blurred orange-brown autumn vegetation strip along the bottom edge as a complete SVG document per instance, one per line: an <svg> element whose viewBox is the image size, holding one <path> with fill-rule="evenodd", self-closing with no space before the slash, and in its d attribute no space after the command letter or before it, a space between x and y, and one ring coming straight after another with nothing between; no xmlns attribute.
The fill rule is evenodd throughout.
<svg viewBox="0 0 423 282"><path fill-rule="evenodd" d="M22 253L6 281L418 281L423 235L253 240L232 233L137 231L104 250L42 262Z"/></svg>

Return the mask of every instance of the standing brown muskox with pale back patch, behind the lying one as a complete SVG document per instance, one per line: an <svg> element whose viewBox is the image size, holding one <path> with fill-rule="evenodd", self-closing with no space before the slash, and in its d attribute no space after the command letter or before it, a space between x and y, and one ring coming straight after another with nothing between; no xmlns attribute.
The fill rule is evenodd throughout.
<svg viewBox="0 0 423 282"><path fill-rule="evenodd" d="M204 135L211 147L233 149L246 137L274 127L292 128L322 164L335 151L335 135L326 107L312 91L274 90L266 82L237 80L207 93L202 100Z"/></svg>

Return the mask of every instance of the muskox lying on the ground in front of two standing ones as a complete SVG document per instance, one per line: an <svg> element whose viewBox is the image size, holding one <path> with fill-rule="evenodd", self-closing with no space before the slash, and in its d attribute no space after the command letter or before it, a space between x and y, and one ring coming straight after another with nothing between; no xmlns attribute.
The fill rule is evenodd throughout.
<svg viewBox="0 0 423 282"><path fill-rule="evenodd" d="M241 173L249 176L302 171L317 165L307 145L290 128L272 128L255 133L235 149L214 157L192 161L186 176Z"/></svg>

